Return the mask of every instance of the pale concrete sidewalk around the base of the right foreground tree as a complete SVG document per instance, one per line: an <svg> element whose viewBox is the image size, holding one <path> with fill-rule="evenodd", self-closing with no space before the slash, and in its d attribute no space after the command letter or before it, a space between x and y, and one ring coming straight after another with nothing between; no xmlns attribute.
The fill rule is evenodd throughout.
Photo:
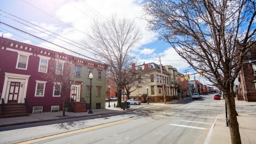
<svg viewBox="0 0 256 144"><path fill-rule="evenodd" d="M242 144L256 144L256 102L235 100L235 105L255 108L253 112L238 112L237 121ZM225 125L226 115L223 113L216 117L205 144L231 144L229 127Z"/></svg>

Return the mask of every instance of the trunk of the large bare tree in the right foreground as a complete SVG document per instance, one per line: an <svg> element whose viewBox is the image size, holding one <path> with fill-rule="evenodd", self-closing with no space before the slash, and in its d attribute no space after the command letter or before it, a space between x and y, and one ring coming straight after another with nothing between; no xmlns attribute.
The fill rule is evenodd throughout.
<svg viewBox="0 0 256 144"><path fill-rule="evenodd" d="M235 112L235 98L234 92L226 91L224 92L225 102L227 104L228 111L228 124L231 136L232 144L241 144L241 138L239 133L239 124L237 122L236 112Z"/></svg>

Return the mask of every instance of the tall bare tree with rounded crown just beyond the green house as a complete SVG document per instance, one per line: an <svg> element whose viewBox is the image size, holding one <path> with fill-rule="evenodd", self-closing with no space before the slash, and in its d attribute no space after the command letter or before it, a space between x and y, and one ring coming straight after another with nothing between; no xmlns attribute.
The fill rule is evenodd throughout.
<svg viewBox="0 0 256 144"><path fill-rule="evenodd" d="M107 76L117 86L117 107L120 107L121 91L124 86L133 82L134 78L138 78L137 74L131 74L128 69L134 63L130 52L134 43L140 38L141 34L134 20L117 19L112 15L108 21L94 20L90 31L87 32L87 37L82 40L86 50L93 53L97 59L111 65Z"/></svg>

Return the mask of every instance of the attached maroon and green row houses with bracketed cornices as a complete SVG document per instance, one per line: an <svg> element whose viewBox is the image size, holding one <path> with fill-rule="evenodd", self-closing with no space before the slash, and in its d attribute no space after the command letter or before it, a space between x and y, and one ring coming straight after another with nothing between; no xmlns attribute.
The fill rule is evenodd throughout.
<svg viewBox="0 0 256 144"><path fill-rule="evenodd" d="M42 76L57 56L71 59L70 71L75 71L66 101L84 99L89 104L92 73L92 109L105 108L107 65L5 37L0 37L0 55L2 104L27 103L29 113L62 111L59 92ZM63 70L63 65L57 63L56 69Z"/></svg>

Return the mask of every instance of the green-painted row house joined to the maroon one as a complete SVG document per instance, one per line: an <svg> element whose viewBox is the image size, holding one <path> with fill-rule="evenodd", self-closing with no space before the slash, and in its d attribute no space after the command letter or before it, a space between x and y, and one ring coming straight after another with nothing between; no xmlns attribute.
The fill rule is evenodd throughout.
<svg viewBox="0 0 256 144"><path fill-rule="evenodd" d="M74 74L74 76L72 76L73 84L71 86L69 95L70 98L74 98L75 102L82 102L84 99L88 109L90 104L89 75L92 73L93 78L91 80L91 108L106 108L105 97L107 65L74 57L71 72Z"/></svg>

